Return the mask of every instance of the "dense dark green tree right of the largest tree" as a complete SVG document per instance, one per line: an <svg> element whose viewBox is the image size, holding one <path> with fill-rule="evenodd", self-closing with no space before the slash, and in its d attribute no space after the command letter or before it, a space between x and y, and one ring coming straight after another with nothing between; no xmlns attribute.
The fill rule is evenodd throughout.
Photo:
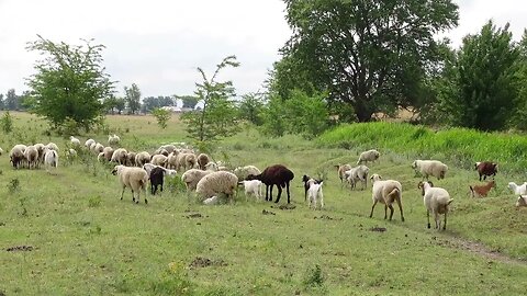
<svg viewBox="0 0 527 296"><path fill-rule="evenodd" d="M519 50L508 24L489 21L463 38L457 57L457 92L445 98L452 124L496 130L506 127L516 107Z"/></svg>

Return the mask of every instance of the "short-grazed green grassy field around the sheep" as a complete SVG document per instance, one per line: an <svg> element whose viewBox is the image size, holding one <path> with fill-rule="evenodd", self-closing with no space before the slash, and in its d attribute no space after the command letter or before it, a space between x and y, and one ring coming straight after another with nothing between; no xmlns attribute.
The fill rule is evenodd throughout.
<svg viewBox="0 0 527 296"><path fill-rule="evenodd" d="M47 143L45 123L15 113L15 132L1 135L9 151L16 143ZM153 151L187 141L172 118L160 130L149 116L110 116L109 126L131 150ZM30 127L31 126L31 127ZM105 144L105 135L93 137ZM135 205L110 166L67 161L55 174L13 170L0 157L0 295L525 295L527 208L514 208L508 181L470 198L474 171L457 168L436 185L455 202L446 231L426 229L426 212L410 168L413 159L382 151L371 172L403 184L406 221L399 212L373 218L371 186L343 187L336 163L355 163L358 150L326 148L295 136L268 139L247 129L218 144L214 157L260 169L284 163L293 170L293 209L249 200L204 206L176 189ZM323 175L326 207L309 209L302 174ZM18 180L18 181L16 181ZM285 203L282 198L281 204ZM266 214L264 214L266 213Z"/></svg>

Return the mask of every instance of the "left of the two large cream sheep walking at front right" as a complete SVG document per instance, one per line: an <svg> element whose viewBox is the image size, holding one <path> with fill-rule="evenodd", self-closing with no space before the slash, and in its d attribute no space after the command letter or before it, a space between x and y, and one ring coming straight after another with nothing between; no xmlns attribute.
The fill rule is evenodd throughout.
<svg viewBox="0 0 527 296"><path fill-rule="evenodd" d="M370 178L373 182L371 198L373 200L373 205L371 206L370 218L373 216L373 208L375 208L377 203L384 204L384 219L386 218L386 210L390 208L390 220L393 217L393 202L396 202L399 209L401 210L401 221L404 221L403 216L403 205L402 205L402 193L403 186L399 181L395 180L381 180L382 178L374 173Z"/></svg>

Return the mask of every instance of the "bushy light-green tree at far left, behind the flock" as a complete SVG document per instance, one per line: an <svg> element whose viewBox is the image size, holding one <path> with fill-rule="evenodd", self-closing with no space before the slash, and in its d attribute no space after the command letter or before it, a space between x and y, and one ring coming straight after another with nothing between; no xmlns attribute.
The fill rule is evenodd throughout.
<svg viewBox="0 0 527 296"><path fill-rule="evenodd" d="M104 112L102 100L112 95L113 81L101 65L103 45L72 46L54 43L38 35L29 50L40 52L44 59L35 64L36 73L27 82L31 112L48 119L54 128L74 121L87 130Z"/></svg>

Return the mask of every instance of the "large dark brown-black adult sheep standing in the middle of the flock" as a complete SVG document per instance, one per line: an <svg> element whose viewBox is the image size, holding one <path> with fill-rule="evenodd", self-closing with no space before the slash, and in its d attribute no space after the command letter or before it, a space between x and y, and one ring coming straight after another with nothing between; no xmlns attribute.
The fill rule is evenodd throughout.
<svg viewBox="0 0 527 296"><path fill-rule="evenodd" d="M282 164L267 167L260 174L249 174L247 177L247 180L260 180L264 184L266 184L266 201L269 202L272 201L273 185L277 185L278 187L278 195L274 203L278 203L280 201L280 196L282 195L282 187L285 187L288 192L288 204L291 203L289 184L293 179L294 173Z"/></svg>

